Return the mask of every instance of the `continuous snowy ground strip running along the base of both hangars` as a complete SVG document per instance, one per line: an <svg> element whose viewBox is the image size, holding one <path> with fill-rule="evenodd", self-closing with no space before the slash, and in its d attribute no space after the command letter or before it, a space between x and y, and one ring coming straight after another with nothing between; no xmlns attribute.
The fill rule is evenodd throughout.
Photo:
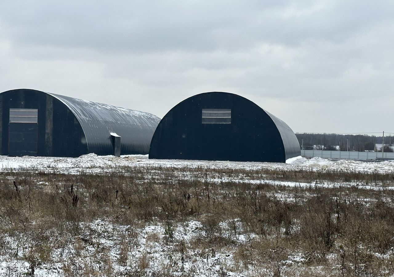
<svg viewBox="0 0 394 277"><path fill-rule="evenodd" d="M262 163L262 162L229 162L229 161L195 161L195 160L154 160L148 155L122 156L120 159L113 156L97 156L87 154L79 158L56 157L8 157L0 156L0 170L10 169L36 169L44 171L59 171L59 173L78 173L80 171L111 171L119 167L188 167L203 169L324 169L330 171L361 171L379 173L394 171L394 161L361 162L355 160L330 161L320 157L311 159L298 157L289 159L288 163Z"/></svg>

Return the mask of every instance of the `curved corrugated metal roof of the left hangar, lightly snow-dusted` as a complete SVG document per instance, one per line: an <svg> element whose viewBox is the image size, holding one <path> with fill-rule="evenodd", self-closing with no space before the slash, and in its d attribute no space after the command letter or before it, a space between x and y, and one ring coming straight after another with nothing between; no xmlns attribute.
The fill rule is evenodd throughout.
<svg viewBox="0 0 394 277"><path fill-rule="evenodd" d="M113 152L111 133L121 137L121 154L147 154L160 118L151 113L129 110L54 93L78 119L85 133L88 151L98 155Z"/></svg>

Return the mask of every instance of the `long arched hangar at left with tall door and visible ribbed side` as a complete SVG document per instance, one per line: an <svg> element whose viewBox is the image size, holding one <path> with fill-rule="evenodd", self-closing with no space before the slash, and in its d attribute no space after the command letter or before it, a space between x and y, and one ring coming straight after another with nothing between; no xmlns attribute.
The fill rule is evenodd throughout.
<svg viewBox="0 0 394 277"><path fill-rule="evenodd" d="M160 118L33 89L0 93L1 154L147 154Z"/></svg>

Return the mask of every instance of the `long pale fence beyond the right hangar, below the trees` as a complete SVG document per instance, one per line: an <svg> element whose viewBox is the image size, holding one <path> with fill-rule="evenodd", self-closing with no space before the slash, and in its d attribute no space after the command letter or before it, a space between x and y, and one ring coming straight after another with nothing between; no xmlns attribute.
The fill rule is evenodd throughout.
<svg viewBox="0 0 394 277"><path fill-rule="evenodd" d="M301 156L307 158L321 157L327 159L376 159L382 158L382 152L355 152L355 151L323 151L301 150ZM393 152L383 153L383 158L394 159Z"/></svg>

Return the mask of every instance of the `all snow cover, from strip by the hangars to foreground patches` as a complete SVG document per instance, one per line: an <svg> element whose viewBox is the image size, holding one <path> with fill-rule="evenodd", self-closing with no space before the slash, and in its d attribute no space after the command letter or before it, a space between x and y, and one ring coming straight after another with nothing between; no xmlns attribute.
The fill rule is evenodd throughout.
<svg viewBox="0 0 394 277"><path fill-rule="evenodd" d="M338 187L348 187L349 191L352 191L349 194L346 193L344 198L345 203L348 204L354 201L369 207L371 204L382 201L381 199L387 200L387 206L394 204L390 197L385 198L384 195L378 201L373 196L367 195L364 197L354 192L354 189L363 188L366 191L371 191L371 195L374 195L375 192L377 193L383 189L379 182L375 182L374 185L366 184L362 180L357 182L350 180L339 184L328 180L297 182L278 180L275 175L259 173L259 171L272 170L280 172L316 171L318 173L350 172L366 175L374 173L392 174L394 173L394 161L330 161L323 158L307 159L298 157L288 160L286 164L279 164L149 160L147 155L122 156L121 158L97 156L95 154L87 154L79 158L0 156L0 171L5 176L15 176L15 172L34 172L39 176L45 175L45 173L71 174L72 176L77 176L80 173L105 175L111 172L121 172L121 174L128 174L134 169L144 169L143 180L145 181L152 178L153 181L157 181L164 171L167 173L171 171L171 177L165 179L166 184L171 184L171 182L175 184L174 178L177 182L198 180L201 184L209 182L217 184L219 187L220 184L226 182L255 187L259 184L265 184L270 188L264 192L266 197L271 197L282 203L293 203L300 206L302 206L303 201L307 201L316 193L317 188L331 189ZM229 173L231 169L239 170L239 172L237 171L236 174ZM226 173L220 173L220 170ZM203 172L206 173L205 176L203 176ZM394 186L390 184L384 186L384 189L394 190ZM53 190L53 187L47 182L39 182L37 186L42 186L43 190ZM289 191L281 188L287 188ZM58 190L57 185L56 190ZM221 190L221 188L217 188L217 191ZM223 191L225 195L225 188L223 188ZM116 191L116 197L117 193ZM248 192L245 193L247 195ZM87 195L90 195L89 192L87 192ZM66 197L68 196L66 195ZM72 194L70 197L72 197ZM91 195L87 197L91 197ZM20 202L22 201L20 200ZM116 204L116 201L119 200L114 201ZM213 201L216 201L215 197ZM28 204L28 207L23 206L23 208L26 210L32 209L30 204ZM106 208L109 209L110 207L107 206ZM163 207L156 208L163 209ZM4 222L8 222L8 220L7 218L1 218L0 214L1 224L6 224ZM268 231L268 236L262 238L261 234L257 235L246 231L247 224L239 218L228 218L220 221L214 231L207 227L209 222L204 222L204 220L208 220L205 215L202 215L199 219L188 218L185 221L168 221L166 223L150 219L144 222L130 223L130 225L114 223L109 218L96 218L92 221L79 222L77 226L72 227L78 230L78 234L65 238L59 237L56 230L43 228L45 223L40 220L29 220L32 221L32 226L40 226L35 227L38 228L38 231L34 232L38 232L39 236L45 237L51 245L37 245L37 235L35 233L34 235L30 234L27 231L22 234L0 233L0 249L2 249L0 251L0 277L24 276L31 274L32 270L35 276L46 277L89 276L92 272L95 276L155 276L158 272L162 274L160 276L273 276L274 273L279 274L277 276L304 276L307 272L313 272L310 276L323 276L327 273L327 268L330 270L330 266L336 272L336 275L343 272L340 271L343 270L340 262L341 258L343 260L341 253L344 248L341 248L343 246L340 246L340 244L333 246L333 251L324 254L322 259L327 264L322 266L311 259L310 253L305 249L279 247L278 241L276 241L277 245L275 247L270 244L275 241L272 234L276 233L276 236L278 236L278 233L283 235L287 232L284 227L280 227L276 231L272 229ZM68 223L63 222L61 224L67 226ZM300 223L295 221L292 224L294 224L293 232L297 232ZM269 234L269 232L272 232L272 234ZM212 238L220 238L225 242L220 244L220 247L211 247L210 240ZM340 241L340 238L338 238L338 241ZM262 256L265 257L263 260L245 256L246 252L252 253L253 256L254 245L262 242L267 242L267 253ZM356 245L357 247L363 249L364 246ZM370 260L377 264L383 262L389 264L390 260L394 260L393 251L394 248L380 253L371 252L369 253ZM245 264L245 260L251 262ZM86 271L87 268L89 268L89 272ZM382 270L381 272L384 276L390 276L385 275L385 272L390 272L390 270Z"/></svg>

